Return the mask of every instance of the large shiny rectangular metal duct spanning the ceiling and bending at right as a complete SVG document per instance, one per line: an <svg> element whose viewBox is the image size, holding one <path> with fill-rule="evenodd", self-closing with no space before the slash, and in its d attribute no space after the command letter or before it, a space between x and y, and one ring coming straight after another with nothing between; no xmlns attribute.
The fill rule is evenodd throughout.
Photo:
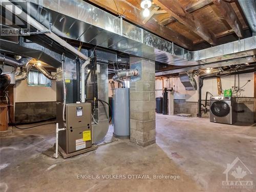
<svg viewBox="0 0 256 192"><path fill-rule="evenodd" d="M27 11L23 3L14 3ZM27 12L30 12L32 19L40 23L40 26L35 25L38 30L42 26L47 29L51 23L52 32L61 37L180 66L183 68L181 71L220 62L221 65L230 65L226 61L256 54L256 36L199 51L188 51L84 1L41 0L28 7L30 10ZM173 71L167 71L169 73Z"/></svg>

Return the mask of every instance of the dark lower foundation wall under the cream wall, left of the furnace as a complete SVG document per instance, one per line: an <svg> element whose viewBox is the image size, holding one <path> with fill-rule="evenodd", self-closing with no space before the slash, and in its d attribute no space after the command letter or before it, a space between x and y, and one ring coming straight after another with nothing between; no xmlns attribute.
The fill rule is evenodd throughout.
<svg viewBox="0 0 256 192"><path fill-rule="evenodd" d="M15 123L29 123L56 118L56 102L16 102Z"/></svg>

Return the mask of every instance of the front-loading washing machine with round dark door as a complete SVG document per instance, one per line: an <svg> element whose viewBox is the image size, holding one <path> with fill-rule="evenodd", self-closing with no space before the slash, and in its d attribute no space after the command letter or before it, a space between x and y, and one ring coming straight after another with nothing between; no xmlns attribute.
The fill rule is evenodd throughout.
<svg viewBox="0 0 256 192"><path fill-rule="evenodd" d="M232 97L210 97L210 122L233 124L236 122L236 112Z"/></svg>

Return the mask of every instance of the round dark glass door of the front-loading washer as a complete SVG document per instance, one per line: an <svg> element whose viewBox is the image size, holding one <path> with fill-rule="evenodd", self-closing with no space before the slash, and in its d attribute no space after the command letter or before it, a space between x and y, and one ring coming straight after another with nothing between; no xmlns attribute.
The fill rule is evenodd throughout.
<svg viewBox="0 0 256 192"><path fill-rule="evenodd" d="M230 107L225 101L216 101L211 104L210 111L217 117L225 117L230 112Z"/></svg>

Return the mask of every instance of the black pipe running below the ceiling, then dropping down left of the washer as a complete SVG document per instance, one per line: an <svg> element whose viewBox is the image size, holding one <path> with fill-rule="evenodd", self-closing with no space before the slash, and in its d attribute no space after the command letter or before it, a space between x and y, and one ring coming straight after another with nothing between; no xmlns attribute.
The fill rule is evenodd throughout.
<svg viewBox="0 0 256 192"><path fill-rule="evenodd" d="M237 75L237 74L243 74L243 73L252 73L255 72L256 68L248 69L248 70L243 70L243 71L237 71L230 73L230 75ZM222 74L223 75L223 74ZM225 74L224 74L225 75ZM229 75L227 75L229 76ZM197 117L202 117L202 87L204 85L204 79L210 79L210 78L215 78L217 75L204 75L204 76L199 76L199 99L198 99L198 114Z"/></svg>

